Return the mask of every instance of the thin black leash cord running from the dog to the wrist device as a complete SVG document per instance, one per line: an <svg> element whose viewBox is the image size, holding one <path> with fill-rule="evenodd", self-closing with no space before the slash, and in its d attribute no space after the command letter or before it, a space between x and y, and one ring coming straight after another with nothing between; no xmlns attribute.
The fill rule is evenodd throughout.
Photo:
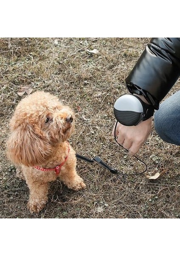
<svg viewBox="0 0 180 256"><path fill-rule="evenodd" d="M117 142L117 139L116 139L116 136L115 136L115 131L116 131L116 127L117 127L117 124L118 124L118 121L116 121L116 124L115 124L115 130L114 130L114 138L115 138L115 141L116 143ZM120 145L122 148L124 148L121 144L118 143L118 145ZM126 148L124 148L126 151L128 151ZM96 157L93 157L93 159L90 159L88 157L84 157L80 154L76 154L76 158L79 158L79 159L82 159L84 161L87 161L89 163L94 163L95 161L99 164L101 164L103 167L105 167L106 169L108 169L110 172L112 172L113 174L117 174L118 176L121 176L124 178L125 176L132 176L132 175L140 175L140 174L143 174L144 172L146 172L147 170L147 165L146 163L144 163L142 160L140 160L138 157L134 156L138 161L140 161L141 163L143 163L145 166L146 166L146 169L143 171L143 172L139 172L139 173L133 173L133 174L127 174L127 173L123 173L121 171L118 171L116 170L114 167L110 167L107 165L107 163L104 163L100 157L96 156Z"/></svg>

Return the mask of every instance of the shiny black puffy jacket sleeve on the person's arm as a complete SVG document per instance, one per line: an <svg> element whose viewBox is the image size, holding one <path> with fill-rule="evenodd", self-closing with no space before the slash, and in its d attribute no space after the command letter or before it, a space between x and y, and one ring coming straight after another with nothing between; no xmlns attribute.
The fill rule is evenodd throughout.
<svg viewBox="0 0 180 256"><path fill-rule="evenodd" d="M129 73L126 86L158 109L179 76L180 38L152 38Z"/></svg>

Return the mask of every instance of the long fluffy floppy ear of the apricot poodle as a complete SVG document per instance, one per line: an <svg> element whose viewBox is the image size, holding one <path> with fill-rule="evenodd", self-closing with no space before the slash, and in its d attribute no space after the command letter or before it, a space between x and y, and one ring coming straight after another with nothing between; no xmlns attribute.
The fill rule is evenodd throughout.
<svg viewBox="0 0 180 256"><path fill-rule="evenodd" d="M37 137L30 125L14 129L6 145L7 157L14 164L42 165L52 154L51 145Z"/></svg>

